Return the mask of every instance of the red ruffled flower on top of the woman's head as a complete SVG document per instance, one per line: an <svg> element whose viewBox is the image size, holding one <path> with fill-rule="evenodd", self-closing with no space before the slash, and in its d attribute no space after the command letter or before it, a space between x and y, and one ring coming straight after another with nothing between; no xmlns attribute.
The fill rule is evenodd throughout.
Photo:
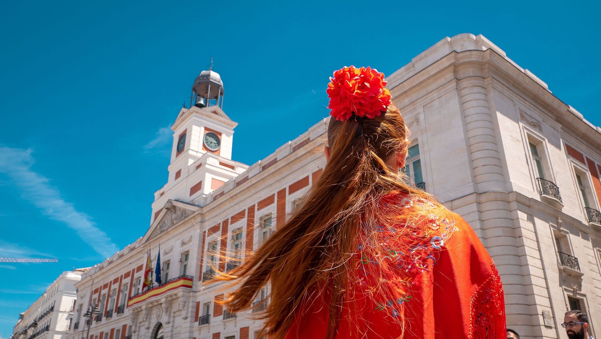
<svg viewBox="0 0 601 339"><path fill-rule="evenodd" d="M373 119L390 105L390 91L384 88L384 74L371 67L343 67L328 83L328 108L336 120L351 116Z"/></svg>

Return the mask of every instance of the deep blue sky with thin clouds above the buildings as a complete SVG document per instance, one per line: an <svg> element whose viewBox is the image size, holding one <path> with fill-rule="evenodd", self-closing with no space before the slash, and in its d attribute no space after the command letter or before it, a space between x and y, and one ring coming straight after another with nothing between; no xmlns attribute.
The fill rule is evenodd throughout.
<svg viewBox="0 0 601 339"><path fill-rule="evenodd" d="M0 334L61 272L144 235L169 126L210 58L247 164L328 115L332 71L390 74L463 32L601 125L601 2L422 3L0 2L0 256L59 259L0 264Z"/></svg>

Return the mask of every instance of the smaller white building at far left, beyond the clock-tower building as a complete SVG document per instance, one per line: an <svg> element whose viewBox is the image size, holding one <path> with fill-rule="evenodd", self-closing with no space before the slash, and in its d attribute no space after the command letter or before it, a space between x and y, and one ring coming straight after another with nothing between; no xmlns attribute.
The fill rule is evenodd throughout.
<svg viewBox="0 0 601 339"><path fill-rule="evenodd" d="M61 339L68 334L77 291L75 284L87 268L63 272L46 292L20 314L11 339Z"/></svg>

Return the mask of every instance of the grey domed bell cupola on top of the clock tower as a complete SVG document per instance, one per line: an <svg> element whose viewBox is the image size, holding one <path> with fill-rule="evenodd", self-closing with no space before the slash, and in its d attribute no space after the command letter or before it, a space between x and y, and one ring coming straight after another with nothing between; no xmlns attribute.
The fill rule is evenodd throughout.
<svg viewBox="0 0 601 339"><path fill-rule="evenodd" d="M224 107L224 83L221 81L221 76L213 67L208 71L202 71L194 80L192 85L192 102L191 106L207 107L219 106Z"/></svg>

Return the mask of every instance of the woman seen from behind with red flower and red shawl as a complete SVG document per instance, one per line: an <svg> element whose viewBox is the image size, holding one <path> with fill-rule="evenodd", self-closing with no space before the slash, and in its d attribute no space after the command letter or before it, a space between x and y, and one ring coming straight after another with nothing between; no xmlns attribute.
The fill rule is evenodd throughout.
<svg viewBox="0 0 601 339"><path fill-rule="evenodd" d="M217 279L231 311L269 286L269 338L504 338L501 280L471 227L403 173L409 146L384 75L330 78L327 163L304 205ZM267 302L267 301L264 301ZM257 306L255 306L257 307Z"/></svg>

